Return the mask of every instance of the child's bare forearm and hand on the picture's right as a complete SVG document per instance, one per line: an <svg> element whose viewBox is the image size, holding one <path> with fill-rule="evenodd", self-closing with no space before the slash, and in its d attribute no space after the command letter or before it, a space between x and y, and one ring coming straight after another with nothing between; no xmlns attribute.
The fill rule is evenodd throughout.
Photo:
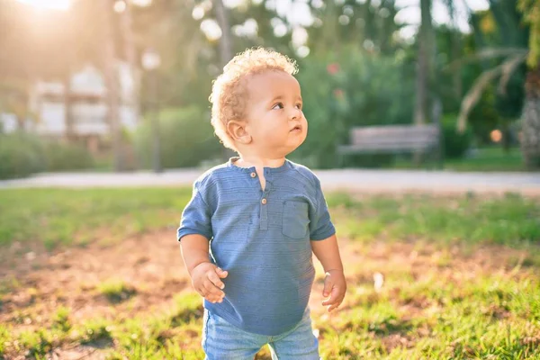
<svg viewBox="0 0 540 360"><path fill-rule="evenodd" d="M324 240L311 241L311 249L326 273L322 295L325 298L330 297L322 302L322 305L328 305L328 310L333 311L343 302L347 292L347 282L339 256L338 238L332 235Z"/></svg>

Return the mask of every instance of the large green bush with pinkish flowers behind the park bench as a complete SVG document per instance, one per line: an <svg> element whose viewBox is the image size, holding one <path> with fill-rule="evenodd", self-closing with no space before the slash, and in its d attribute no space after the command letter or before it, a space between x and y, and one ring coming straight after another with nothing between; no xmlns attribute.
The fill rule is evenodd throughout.
<svg viewBox="0 0 540 360"><path fill-rule="evenodd" d="M344 47L300 63L308 139L293 157L312 167L336 166L336 146L353 126L410 123L413 76L396 58ZM357 157L356 165L381 165L392 157Z"/></svg>

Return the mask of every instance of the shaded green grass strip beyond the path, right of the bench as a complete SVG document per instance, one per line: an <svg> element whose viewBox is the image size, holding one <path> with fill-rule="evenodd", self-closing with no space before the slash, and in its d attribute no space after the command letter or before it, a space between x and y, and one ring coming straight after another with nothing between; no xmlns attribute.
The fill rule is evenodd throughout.
<svg viewBox="0 0 540 360"><path fill-rule="evenodd" d="M433 167L433 161L428 161L426 166ZM416 168L410 159L398 159L392 168L408 169ZM478 148L476 153L469 157L447 158L445 170L451 171L525 171L523 157L519 148L511 148L505 152L500 147Z"/></svg>

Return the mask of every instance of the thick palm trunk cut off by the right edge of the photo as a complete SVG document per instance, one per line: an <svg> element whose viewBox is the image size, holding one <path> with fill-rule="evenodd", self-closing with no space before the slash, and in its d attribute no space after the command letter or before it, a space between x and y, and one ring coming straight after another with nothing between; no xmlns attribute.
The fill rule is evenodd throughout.
<svg viewBox="0 0 540 360"><path fill-rule="evenodd" d="M540 64L530 69L525 83L526 99L520 134L521 151L529 170L540 169Z"/></svg>

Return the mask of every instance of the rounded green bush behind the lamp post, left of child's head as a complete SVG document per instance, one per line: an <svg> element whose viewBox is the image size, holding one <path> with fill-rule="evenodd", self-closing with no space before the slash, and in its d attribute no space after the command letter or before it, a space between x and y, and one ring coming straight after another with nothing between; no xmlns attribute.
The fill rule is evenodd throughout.
<svg viewBox="0 0 540 360"><path fill-rule="evenodd" d="M160 112L159 129L164 167L198 166L202 160L219 156L222 148L213 134L210 114L194 106ZM133 138L140 165L150 167L153 138L149 119L139 126Z"/></svg>

